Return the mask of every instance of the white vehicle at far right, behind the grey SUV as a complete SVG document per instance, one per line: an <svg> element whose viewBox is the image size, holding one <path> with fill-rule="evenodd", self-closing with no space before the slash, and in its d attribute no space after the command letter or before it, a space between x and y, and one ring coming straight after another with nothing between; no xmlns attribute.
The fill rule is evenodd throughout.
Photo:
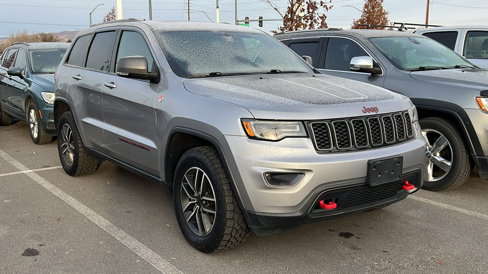
<svg viewBox="0 0 488 274"><path fill-rule="evenodd" d="M434 39L478 67L488 69L488 26L429 27L414 33Z"/></svg>

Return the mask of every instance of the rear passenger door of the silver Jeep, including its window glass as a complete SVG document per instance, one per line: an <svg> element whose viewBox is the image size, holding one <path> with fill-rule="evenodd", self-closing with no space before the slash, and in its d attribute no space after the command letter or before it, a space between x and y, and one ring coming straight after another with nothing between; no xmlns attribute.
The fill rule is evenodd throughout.
<svg viewBox="0 0 488 274"><path fill-rule="evenodd" d="M102 84L109 70L117 36L116 28L104 28L75 41L66 65L71 67L68 100L85 145L105 152L103 139ZM88 51L86 53L86 48Z"/></svg>

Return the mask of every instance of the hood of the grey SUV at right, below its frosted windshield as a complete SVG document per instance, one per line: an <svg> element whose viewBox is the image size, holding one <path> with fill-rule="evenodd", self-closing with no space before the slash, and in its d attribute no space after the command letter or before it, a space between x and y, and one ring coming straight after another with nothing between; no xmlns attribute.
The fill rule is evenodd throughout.
<svg viewBox="0 0 488 274"><path fill-rule="evenodd" d="M488 89L487 69L440 69L414 71L410 73L410 77L424 82L469 87L477 90Z"/></svg>

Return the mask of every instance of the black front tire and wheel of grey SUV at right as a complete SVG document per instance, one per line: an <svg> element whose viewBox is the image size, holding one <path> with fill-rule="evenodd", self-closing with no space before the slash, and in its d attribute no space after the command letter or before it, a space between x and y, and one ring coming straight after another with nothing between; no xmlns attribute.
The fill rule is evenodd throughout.
<svg viewBox="0 0 488 274"><path fill-rule="evenodd" d="M426 149L427 167L422 188L438 191L454 189L464 184L473 169L473 161L459 128L454 123L439 117L424 118L419 123L422 134L429 142ZM437 144L435 141L438 141ZM439 144L445 146L441 148ZM450 165L447 164L449 162Z"/></svg>

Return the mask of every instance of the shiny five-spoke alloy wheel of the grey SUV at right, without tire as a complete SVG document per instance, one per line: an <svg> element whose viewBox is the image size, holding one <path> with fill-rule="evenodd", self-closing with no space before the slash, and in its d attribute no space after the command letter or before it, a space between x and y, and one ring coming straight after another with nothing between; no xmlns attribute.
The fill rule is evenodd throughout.
<svg viewBox="0 0 488 274"><path fill-rule="evenodd" d="M423 129L427 139L425 181L436 182L447 176L452 167L452 148L447 138L433 129Z"/></svg>

